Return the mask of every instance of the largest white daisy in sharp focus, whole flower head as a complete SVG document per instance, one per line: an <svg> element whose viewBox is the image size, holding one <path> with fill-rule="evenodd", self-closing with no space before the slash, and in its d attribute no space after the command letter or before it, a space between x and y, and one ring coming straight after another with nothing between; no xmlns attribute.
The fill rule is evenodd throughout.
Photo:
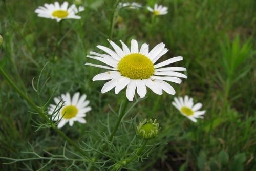
<svg viewBox="0 0 256 171"><path fill-rule="evenodd" d="M102 93L108 92L115 87L115 93L118 94L127 86L126 97L130 101L133 101L136 89L140 98L145 97L146 87L158 95L161 95L163 91L174 95L174 88L165 81L179 84L181 79L178 77L186 78L186 75L176 72L186 71L184 67L163 67L182 60L181 56L156 64L156 61L168 51L168 49L164 48L165 45L163 43L156 45L149 51L148 44L142 44L139 49L138 42L134 39L131 42L131 49L121 40L122 49L113 41L109 40L109 42L115 51L99 45L97 48L107 54L90 52L90 55L87 56L108 66L86 63L89 66L111 70L93 77L93 81L110 80L102 87Z"/></svg>

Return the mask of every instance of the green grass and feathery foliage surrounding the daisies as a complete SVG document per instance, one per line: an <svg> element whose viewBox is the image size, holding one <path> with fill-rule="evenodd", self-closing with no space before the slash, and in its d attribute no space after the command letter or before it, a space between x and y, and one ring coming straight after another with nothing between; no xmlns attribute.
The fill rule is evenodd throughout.
<svg viewBox="0 0 256 171"><path fill-rule="evenodd" d="M0 2L0 170L256 170L256 1L147 0L117 11L119 1L81 0L81 19L61 22L34 12L53 2ZM146 9L156 2L166 15ZM170 83L176 95L147 89L128 104L125 89L102 94L105 81L92 78L106 70L84 63L97 63L86 57L103 54L96 46L112 49L107 39L150 50L163 42L169 51L158 62L183 56L171 66L185 67L187 79ZM86 94L92 110L86 124L57 129L47 110L66 92ZM185 95L203 104L204 119L174 108ZM110 138L125 104L130 111ZM145 118L161 129L143 146L136 125Z"/></svg>

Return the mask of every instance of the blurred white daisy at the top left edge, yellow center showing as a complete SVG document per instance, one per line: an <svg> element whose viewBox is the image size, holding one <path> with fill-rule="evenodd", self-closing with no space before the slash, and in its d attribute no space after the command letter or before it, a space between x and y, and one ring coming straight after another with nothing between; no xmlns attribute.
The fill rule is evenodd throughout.
<svg viewBox="0 0 256 171"><path fill-rule="evenodd" d="M80 19L81 17L76 15L76 13L81 12L84 10L84 7L79 6L78 8L72 4L68 8L69 3L63 2L63 4L59 4L55 2L54 4L44 4L44 7L39 6L35 13L37 16L43 18L51 18L56 19L59 22L62 19Z"/></svg>

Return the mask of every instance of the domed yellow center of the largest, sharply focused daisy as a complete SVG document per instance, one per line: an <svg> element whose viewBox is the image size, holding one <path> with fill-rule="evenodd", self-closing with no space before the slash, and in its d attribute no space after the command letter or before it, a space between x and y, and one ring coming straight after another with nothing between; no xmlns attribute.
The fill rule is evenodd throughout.
<svg viewBox="0 0 256 171"><path fill-rule="evenodd" d="M152 61L139 53L124 56L117 66L120 73L131 79L147 79L154 74Z"/></svg>

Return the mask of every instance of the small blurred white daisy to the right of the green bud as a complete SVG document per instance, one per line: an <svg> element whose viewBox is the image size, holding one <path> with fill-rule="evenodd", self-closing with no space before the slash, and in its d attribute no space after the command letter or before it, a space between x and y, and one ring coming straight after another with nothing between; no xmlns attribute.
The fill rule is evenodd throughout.
<svg viewBox="0 0 256 171"><path fill-rule="evenodd" d="M193 98L189 98L188 96L185 96L184 99L182 97L175 97L172 104L181 112L182 115L193 122L197 122L196 118L203 118L202 115L206 112L199 111L199 109L202 108L202 103L196 103L194 105Z"/></svg>

